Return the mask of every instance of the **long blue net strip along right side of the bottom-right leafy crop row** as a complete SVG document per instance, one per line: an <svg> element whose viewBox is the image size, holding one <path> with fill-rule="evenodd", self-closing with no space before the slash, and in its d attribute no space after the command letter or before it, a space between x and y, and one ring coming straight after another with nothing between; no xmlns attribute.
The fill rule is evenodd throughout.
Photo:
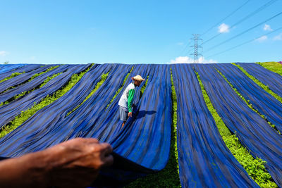
<svg viewBox="0 0 282 188"><path fill-rule="evenodd" d="M240 99L214 65L195 65L209 99L225 125L252 156L266 161L266 170L282 185L282 136Z"/></svg>

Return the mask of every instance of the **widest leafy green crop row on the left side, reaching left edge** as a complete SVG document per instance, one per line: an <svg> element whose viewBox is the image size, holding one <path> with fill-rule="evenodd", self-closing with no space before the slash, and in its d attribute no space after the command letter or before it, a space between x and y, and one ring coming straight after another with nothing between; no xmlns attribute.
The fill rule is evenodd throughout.
<svg viewBox="0 0 282 188"><path fill-rule="evenodd" d="M82 71L79 74L72 75L71 80L69 80L68 83L66 84L66 86L64 86L62 89L59 89L58 91L56 91L51 96L46 96L44 99L42 99L42 101L39 102L39 104L35 104L34 106L27 109L26 111L22 111L22 113L20 113L20 115L17 115L16 118L11 121L11 123L6 125L2 129L2 131L0 132L0 138L4 137L9 132L15 130L19 125L23 124L28 118L30 118L33 114L35 114L40 109L42 109L45 106L53 103L54 101L59 99L61 96L63 96L63 94L66 94L66 92L68 92L68 90L70 90L80 80L80 78L83 75L85 75L85 73L87 73L88 70L90 70L90 68L88 68L85 71ZM42 87L44 84L47 83L47 80L45 80L45 81L46 82L42 83L42 85L40 87Z"/></svg>

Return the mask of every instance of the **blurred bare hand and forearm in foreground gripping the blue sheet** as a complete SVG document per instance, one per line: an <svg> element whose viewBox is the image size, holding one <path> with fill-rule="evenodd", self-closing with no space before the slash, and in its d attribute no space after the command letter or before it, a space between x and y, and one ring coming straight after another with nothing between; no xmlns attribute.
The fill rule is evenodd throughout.
<svg viewBox="0 0 282 188"><path fill-rule="evenodd" d="M1 187L87 187L111 165L112 148L97 139L71 139L44 151L0 161Z"/></svg>

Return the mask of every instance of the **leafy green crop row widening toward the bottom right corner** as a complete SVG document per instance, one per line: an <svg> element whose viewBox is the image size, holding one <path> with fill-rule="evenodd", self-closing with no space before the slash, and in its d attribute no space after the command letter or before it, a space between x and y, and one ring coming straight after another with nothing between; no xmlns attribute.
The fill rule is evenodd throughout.
<svg viewBox="0 0 282 188"><path fill-rule="evenodd" d="M231 151L233 156L237 159L237 161L243 165L243 168L247 171L247 173L252 177L260 187L277 187L275 182L272 180L271 175L266 171L264 167L265 161L262 161L260 158L254 158L249 151L240 143L238 137L235 134L232 134L228 127L226 127L225 123L216 112L214 106L212 106L212 102L207 95L206 90L204 89L204 85L200 79L200 75L197 74L198 81L200 83L202 94L204 96L204 101L207 104L207 108L212 113L212 116L215 120L216 126L219 129L219 134L225 142L228 149Z"/></svg>

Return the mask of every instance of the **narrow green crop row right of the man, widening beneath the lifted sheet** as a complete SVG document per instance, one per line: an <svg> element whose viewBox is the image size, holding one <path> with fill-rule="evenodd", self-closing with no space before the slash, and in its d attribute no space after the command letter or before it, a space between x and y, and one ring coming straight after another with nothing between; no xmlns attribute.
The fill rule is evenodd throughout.
<svg viewBox="0 0 282 188"><path fill-rule="evenodd" d="M148 80L148 79L147 79ZM147 81L146 80L146 81ZM172 123L171 123L171 148L166 167L158 173L147 175L131 182L126 187L181 187L178 173L178 153L176 143L177 101L176 90L171 75Z"/></svg>

